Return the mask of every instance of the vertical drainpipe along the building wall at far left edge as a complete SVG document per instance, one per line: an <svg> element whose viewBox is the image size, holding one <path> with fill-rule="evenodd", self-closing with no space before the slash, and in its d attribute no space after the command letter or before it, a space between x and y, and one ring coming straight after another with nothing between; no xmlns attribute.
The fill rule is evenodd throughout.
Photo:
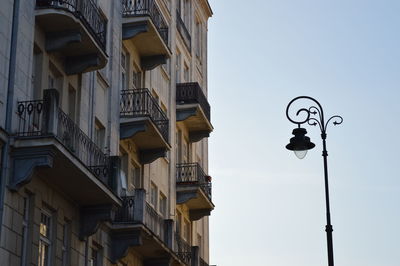
<svg viewBox="0 0 400 266"><path fill-rule="evenodd" d="M19 3L20 0L14 0L13 6L13 18L12 18L12 29L11 29L11 47L10 47L10 65L8 68L8 85L7 85L7 103L6 103L6 124L5 130L9 135L12 128L12 112L14 105L14 85L15 85L15 68L16 68L16 57L17 57L17 39L18 39L18 24L19 24ZM6 189L6 181L8 180L7 174L9 172L9 150L10 150L10 139L7 137L7 141L2 150L1 156L1 172L0 172L0 225L3 224L3 212L4 212L4 194ZM2 226L0 226L0 235L2 233Z"/></svg>

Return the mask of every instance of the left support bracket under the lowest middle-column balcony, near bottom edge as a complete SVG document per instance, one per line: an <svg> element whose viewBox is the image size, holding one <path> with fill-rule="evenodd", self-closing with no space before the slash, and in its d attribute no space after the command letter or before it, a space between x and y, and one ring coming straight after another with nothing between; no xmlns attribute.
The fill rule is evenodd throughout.
<svg viewBox="0 0 400 266"><path fill-rule="evenodd" d="M143 244L140 229L113 232L111 236L111 262L116 264L128 254L129 247L141 246Z"/></svg>

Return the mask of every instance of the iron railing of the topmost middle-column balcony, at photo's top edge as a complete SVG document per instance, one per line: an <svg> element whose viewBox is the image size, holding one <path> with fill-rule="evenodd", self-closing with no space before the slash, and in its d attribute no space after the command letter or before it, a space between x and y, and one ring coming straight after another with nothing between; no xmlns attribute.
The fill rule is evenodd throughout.
<svg viewBox="0 0 400 266"><path fill-rule="evenodd" d="M124 17L149 16L158 33L168 46L168 24L154 0L122 0Z"/></svg>

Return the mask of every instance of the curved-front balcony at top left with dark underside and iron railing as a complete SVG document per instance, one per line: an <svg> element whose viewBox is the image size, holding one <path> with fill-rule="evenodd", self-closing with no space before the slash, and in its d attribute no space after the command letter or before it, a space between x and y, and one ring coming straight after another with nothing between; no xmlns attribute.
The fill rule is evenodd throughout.
<svg viewBox="0 0 400 266"><path fill-rule="evenodd" d="M93 0L36 0L36 22L46 51L64 58L67 75L107 64L107 20Z"/></svg>

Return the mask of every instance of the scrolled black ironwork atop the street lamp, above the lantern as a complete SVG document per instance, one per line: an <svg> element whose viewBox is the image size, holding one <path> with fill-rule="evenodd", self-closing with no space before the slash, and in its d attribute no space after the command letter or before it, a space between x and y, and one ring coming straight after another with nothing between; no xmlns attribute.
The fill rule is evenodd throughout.
<svg viewBox="0 0 400 266"><path fill-rule="evenodd" d="M298 120L296 118L292 118L289 115L289 110L291 105L296 102L297 100L310 100L316 104L316 106L310 106L308 109L307 108L300 108L296 112L296 118L301 114L301 113L306 113L306 118L304 120ZM307 123L310 126L319 126L321 129L322 134L326 134L326 130L328 128L328 125L330 122L332 122L333 125L337 126L343 123L343 118L339 115L334 115L330 117L327 122L325 123L325 117L324 117L324 109L322 108L321 104L315 100L314 98L310 96L299 96L291 100L286 107L286 117L287 119L292 122L293 124L300 125Z"/></svg>

